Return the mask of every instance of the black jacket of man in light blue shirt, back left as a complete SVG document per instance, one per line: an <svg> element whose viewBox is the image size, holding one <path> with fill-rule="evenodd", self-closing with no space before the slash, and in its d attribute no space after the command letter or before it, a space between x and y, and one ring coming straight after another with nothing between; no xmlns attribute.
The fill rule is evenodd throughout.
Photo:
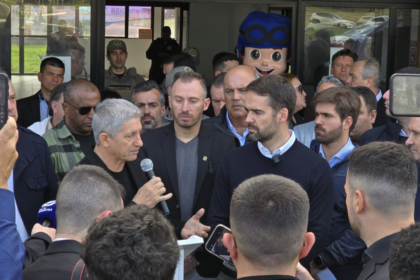
<svg viewBox="0 0 420 280"><path fill-rule="evenodd" d="M18 125L28 127L41 120L41 111L39 109L40 92L41 90L34 95L19 99L16 102L19 115L17 120Z"/></svg>

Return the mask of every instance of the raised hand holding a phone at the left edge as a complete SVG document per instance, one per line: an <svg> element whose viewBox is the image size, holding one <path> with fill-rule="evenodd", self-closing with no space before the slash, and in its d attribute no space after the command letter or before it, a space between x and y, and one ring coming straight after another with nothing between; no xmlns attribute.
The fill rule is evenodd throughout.
<svg viewBox="0 0 420 280"><path fill-rule="evenodd" d="M0 189L9 189L7 180L12 173L15 162L18 158L16 143L19 138L16 121L9 117L4 127L0 130Z"/></svg>

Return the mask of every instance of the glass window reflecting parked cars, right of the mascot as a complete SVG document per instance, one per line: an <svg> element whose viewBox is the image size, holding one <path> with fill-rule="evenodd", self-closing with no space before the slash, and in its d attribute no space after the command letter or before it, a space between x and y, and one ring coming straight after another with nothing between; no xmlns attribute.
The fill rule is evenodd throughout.
<svg viewBox="0 0 420 280"><path fill-rule="evenodd" d="M331 73L331 58L347 48L359 58L381 65L381 89L386 85L389 9L306 7L303 82L315 89Z"/></svg>

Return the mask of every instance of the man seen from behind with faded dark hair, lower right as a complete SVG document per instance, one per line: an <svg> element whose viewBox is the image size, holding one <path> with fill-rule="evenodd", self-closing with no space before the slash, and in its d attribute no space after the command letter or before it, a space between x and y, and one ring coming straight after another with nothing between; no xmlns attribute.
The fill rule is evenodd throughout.
<svg viewBox="0 0 420 280"><path fill-rule="evenodd" d="M367 246L357 279L389 279L391 241L414 224L416 161L402 145L370 143L350 154L344 188L350 224Z"/></svg>

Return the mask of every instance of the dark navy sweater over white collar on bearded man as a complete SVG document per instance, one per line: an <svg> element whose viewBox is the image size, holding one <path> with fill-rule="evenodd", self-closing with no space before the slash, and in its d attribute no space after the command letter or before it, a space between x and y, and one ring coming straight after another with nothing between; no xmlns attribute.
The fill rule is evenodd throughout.
<svg viewBox="0 0 420 280"><path fill-rule="evenodd" d="M231 150L221 162L210 203L207 224L229 225L230 200L235 188L244 180L262 174L276 174L299 183L310 202L308 231L316 237L309 255L301 260L308 265L322 250L328 239L334 207L334 184L328 163L299 141L280 156L280 162L264 157L257 143Z"/></svg>

